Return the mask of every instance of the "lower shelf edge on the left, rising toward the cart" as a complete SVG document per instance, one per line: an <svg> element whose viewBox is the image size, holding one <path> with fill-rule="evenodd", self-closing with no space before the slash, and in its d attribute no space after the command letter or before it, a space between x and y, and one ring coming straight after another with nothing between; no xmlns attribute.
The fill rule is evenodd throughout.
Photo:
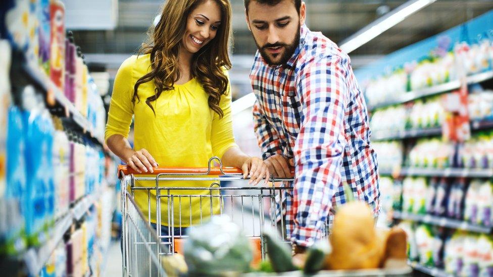
<svg viewBox="0 0 493 277"><path fill-rule="evenodd" d="M100 194L94 192L82 198L65 216L60 218L55 223L55 231L48 241L40 248L30 248L24 254L23 260L27 266L27 270L31 276L37 276L41 268L44 266L50 255L53 253L58 243L63 239L63 236L71 228L74 220L80 218L92 206L94 201Z"/></svg>

